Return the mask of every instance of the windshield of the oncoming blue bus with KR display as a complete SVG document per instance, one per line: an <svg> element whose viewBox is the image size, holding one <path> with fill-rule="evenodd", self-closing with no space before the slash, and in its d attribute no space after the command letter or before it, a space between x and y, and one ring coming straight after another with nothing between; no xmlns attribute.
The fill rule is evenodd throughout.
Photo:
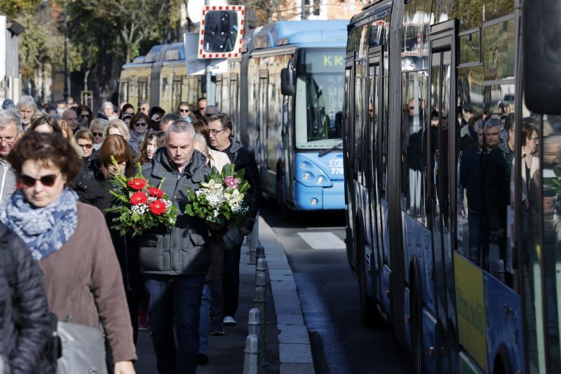
<svg viewBox="0 0 561 374"><path fill-rule="evenodd" d="M344 49L299 51L295 134L299 149L342 145Z"/></svg>

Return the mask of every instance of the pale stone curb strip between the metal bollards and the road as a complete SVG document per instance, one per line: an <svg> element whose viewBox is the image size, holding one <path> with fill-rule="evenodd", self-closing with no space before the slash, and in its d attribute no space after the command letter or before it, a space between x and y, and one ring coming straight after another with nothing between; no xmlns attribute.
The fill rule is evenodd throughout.
<svg viewBox="0 0 561 374"><path fill-rule="evenodd" d="M273 230L259 217L259 242L265 248L278 334L280 374L314 374L308 329L292 269Z"/></svg>

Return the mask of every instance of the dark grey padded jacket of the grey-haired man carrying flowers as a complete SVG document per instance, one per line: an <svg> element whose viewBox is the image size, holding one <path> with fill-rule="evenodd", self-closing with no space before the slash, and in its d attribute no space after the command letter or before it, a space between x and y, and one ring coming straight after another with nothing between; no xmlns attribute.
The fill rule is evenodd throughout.
<svg viewBox="0 0 561 374"><path fill-rule="evenodd" d="M140 238L140 269L144 274L197 275L207 274L210 267L208 228L201 218L184 213L187 203L185 188L198 190L198 184L210 173L207 159L194 151L183 173L168 159L165 147L156 151L149 163L142 166L142 175L150 185L158 186L177 208L173 229L160 227Z"/></svg>

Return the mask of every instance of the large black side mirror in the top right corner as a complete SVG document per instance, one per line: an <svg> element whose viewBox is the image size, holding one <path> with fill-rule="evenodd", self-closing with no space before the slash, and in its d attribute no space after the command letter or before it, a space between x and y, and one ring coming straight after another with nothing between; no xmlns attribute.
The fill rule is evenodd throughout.
<svg viewBox="0 0 561 374"><path fill-rule="evenodd" d="M522 79L526 107L561 114L561 1L522 1Z"/></svg>

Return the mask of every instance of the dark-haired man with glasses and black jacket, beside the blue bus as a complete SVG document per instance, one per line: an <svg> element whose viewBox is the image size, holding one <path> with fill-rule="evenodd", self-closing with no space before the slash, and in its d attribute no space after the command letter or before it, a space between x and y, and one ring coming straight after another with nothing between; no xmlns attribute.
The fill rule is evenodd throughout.
<svg viewBox="0 0 561 374"><path fill-rule="evenodd" d="M238 309L238 293L240 286L240 257L243 236L252 232L257 211L259 209L259 197L261 196L261 184L259 182L259 169L255 162L255 155L249 149L243 147L241 142L234 139L232 133L232 122L224 113L217 113L208 119L210 130L210 146L228 155L235 170L245 169L245 179L250 184L248 191L248 215L239 229L232 229L224 236L224 243L228 251L224 251L224 278L222 288L224 294L224 326L236 326L234 316Z"/></svg>

